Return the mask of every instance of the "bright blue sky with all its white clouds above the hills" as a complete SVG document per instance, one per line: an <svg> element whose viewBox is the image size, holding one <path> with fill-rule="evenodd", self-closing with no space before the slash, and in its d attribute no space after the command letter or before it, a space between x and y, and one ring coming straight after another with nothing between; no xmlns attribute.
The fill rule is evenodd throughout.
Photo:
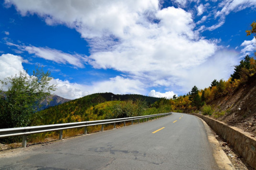
<svg viewBox="0 0 256 170"><path fill-rule="evenodd" d="M0 0L0 16L0 79L41 65L67 99L183 95L256 47L256 0Z"/></svg>

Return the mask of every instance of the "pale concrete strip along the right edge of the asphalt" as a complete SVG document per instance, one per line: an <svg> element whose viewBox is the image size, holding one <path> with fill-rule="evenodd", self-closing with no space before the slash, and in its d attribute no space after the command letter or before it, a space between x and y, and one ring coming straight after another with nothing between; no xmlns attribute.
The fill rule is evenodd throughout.
<svg viewBox="0 0 256 170"><path fill-rule="evenodd" d="M210 143L210 146L213 150L213 157L215 162L217 163L220 170L235 170L234 165L228 159L225 152L222 150L219 141L213 135L213 130L210 126L201 118L195 116L196 118L200 119L203 122L204 129L207 133L207 138Z"/></svg>

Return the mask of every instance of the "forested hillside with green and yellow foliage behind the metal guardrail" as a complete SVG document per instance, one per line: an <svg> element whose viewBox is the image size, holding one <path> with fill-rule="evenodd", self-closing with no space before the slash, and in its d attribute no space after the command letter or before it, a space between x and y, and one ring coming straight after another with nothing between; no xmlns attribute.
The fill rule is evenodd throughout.
<svg viewBox="0 0 256 170"><path fill-rule="evenodd" d="M39 111L33 115L31 125L153 114L155 112L150 113L149 110L152 110L151 104L157 100L160 100L160 98L137 94L96 93ZM157 108L160 108L160 106Z"/></svg>

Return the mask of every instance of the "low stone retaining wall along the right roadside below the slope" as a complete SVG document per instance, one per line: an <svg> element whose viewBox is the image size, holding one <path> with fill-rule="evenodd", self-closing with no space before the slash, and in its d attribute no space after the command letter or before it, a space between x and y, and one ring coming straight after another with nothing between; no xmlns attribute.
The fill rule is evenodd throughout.
<svg viewBox="0 0 256 170"><path fill-rule="evenodd" d="M236 127L208 118L206 116L192 113L192 115L203 119L216 133L228 141L238 153L245 158L246 162L256 169L256 139Z"/></svg>

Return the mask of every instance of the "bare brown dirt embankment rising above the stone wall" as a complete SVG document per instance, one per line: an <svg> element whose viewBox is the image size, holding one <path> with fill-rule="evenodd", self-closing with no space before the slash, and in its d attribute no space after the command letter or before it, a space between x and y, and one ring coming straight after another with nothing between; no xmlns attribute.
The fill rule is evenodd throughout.
<svg viewBox="0 0 256 170"><path fill-rule="evenodd" d="M256 76L233 94L214 100L210 104L215 111L225 111L224 116L217 120L256 136Z"/></svg>

